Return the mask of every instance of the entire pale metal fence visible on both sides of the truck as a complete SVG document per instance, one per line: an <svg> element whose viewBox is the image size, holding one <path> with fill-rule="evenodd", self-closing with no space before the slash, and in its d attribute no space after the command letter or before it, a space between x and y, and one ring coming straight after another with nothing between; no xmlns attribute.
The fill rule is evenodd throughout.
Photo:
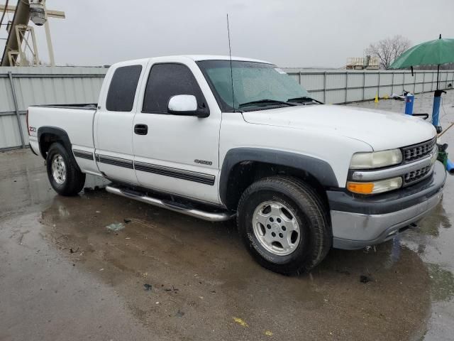
<svg viewBox="0 0 454 341"><path fill-rule="evenodd" d="M0 151L28 144L26 109L33 104L96 103L104 67L0 67ZM311 95L328 104L436 89L436 71L285 69ZM454 85L454 70L441 71L440 89Z"/></svg>

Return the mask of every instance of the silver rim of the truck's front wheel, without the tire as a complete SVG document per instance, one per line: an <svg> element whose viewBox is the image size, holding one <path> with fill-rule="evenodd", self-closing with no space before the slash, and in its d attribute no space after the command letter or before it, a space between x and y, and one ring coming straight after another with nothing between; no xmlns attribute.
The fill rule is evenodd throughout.
<svg viewBox="0 0 454 341"><path fill-rule="evenodd" d="M253 214L253 230L260 245L277 256L292 254L301 240L294 213L277 201L258 205Z"/></svg>

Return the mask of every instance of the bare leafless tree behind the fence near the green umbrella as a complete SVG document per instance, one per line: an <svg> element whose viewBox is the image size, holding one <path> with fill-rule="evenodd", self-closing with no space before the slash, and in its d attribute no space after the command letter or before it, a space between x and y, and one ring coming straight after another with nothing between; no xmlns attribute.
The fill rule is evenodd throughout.
<svg viewBox="0 0 454 341"><path fill-rule="evenodd" d="M366 51L367 54L375 55L380 60L380 67L386 70L394 59L409 49L410 45L411 41L408 38L397 35L370 44Z"/></svg>

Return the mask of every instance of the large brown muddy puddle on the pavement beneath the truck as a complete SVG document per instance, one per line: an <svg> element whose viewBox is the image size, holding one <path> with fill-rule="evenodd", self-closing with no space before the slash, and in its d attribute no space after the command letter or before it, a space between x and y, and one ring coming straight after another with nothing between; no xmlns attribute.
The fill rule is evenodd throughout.
<svg viewBox="0 0 454 341"><path fill-rule="evenodd" d="M55 197L43 215L48 243L111 286L148 328L160 319L187 337L216 328L222 339L231 337L230 328L238 336L236 316L248 321L241 335L250 340L264 330L281 339L319 340L330 331L344 340L366 330L372 340L387 340L383 330L399 340L425 331L431 280L418 254L399 242L367 252L332 250L310 275L286 277L250 258L234 222L203 222L104 190ZM126 229L106 229L126 218ZM361 276L371 281L362 283ZM144 291L144 283L153 290ZM184 316L176 322L178 311ZM289 320L304 325L289 332Z"/></svg>

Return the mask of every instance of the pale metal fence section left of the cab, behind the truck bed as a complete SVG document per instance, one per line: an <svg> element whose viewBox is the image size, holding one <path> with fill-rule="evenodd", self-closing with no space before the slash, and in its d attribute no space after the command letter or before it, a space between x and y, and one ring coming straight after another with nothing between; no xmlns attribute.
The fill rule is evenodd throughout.
<svg viewBox="0 0 454 341"><path fill-rule="evenodd" d="M0 67L0 151L28 144L33 104L96 103L103 67Z"/></svg>

